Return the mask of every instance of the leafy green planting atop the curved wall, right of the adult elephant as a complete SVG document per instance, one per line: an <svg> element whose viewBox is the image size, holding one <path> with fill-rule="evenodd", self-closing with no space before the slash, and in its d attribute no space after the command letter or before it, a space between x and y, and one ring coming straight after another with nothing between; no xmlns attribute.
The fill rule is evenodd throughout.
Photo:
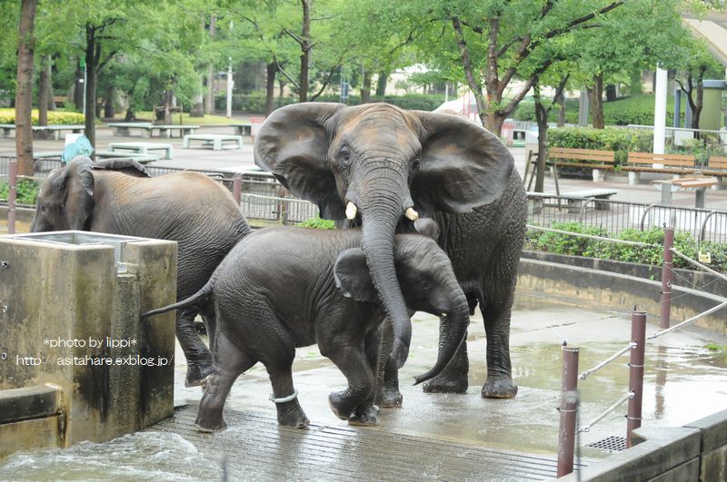
<svg viewBox="0 0 727 482"><path fill-rule="evenodd" d="M583 226L578 222L553 222L553 229L570 232L580 232L595 236L607 236L603 228ZM601 260L627 261L661 266L663 255L664 231L662 228L652 228L650 231L625 230L613 239L624 241L638 241L655 245L654 247L640 247L627 244L618 244L609 241L591 240L568 234L549 231L529 230L525 241L525 249L531 251L545 251L554 254L570 254L586 256ZM710 267L715 271L727 271L727 244L711 241L698 243L688 232L676 232L674 235L674 248L684 255L697 259L699 251L710 252L712 263ZM674 257L674 267L693 270L691 264L681 258Z"/></svg>

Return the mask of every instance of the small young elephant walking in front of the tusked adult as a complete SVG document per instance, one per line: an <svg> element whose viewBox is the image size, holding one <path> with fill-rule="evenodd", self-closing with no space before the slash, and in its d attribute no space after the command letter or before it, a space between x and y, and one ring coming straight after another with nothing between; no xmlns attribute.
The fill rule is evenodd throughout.
<svg viewBox="0 0 727 482"><path fill-rule="evenodd" d="M197 428L225 427L224 401L234 380L257 361L270 375L274 397L289 397L294 393L295 348L316 342L348 380L347 389L329 396L334 414L354 425L377 423L373 398L385 313L361 237L360 230L277 227L254 232L234 247L199 293L144 313L214 300L214 375L204 389ZM419 382L441 372L462 344L469 308L449 259L432 239L397 235L394 264L407 309L447 319L443 349L433 369L416 378ZM281 425L308 425L297 398L278 402L276 408Z"/></svg>

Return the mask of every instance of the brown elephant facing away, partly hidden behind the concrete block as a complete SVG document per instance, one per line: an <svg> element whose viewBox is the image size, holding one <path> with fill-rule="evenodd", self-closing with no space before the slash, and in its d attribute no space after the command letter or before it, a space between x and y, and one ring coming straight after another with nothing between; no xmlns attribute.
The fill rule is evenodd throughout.
<svg viewBox="0 0 727 482"><path fill-rule="evenodd" d="M250 227L230 193L209 177L179 172L150 178L134 164L94 165L86 158L55 169L41 186L31 231L84 230L177 241L177 300L184 300L204 286ZM210 350L194 330L197 313L205 323L214 316L212 307L203 305L176 314L188 387L202 385L212 373Z"/></svg>

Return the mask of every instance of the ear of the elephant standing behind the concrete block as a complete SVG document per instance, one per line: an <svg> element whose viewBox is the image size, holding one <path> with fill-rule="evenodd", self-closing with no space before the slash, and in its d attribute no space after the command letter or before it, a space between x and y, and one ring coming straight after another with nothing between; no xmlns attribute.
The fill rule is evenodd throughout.
<svg viewBox="0 0 727 482"><path fill-rule="evenodd" d="M87 157L65 166L65 179L58 195L61 197L65 219L71 230L83 230L94 211L93 162Z"/></svg>

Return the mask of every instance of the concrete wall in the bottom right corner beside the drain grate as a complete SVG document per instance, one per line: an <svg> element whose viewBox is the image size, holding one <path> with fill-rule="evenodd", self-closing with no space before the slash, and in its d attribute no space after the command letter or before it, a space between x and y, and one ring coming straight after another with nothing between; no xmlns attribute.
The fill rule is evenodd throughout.
<svg viewBox="0 0 727 482"><path fill-rule="evenodd" d="M727 410L684 427L638 428L632 433L632 443L632 448L558 480L727 480Z"/></svg>

